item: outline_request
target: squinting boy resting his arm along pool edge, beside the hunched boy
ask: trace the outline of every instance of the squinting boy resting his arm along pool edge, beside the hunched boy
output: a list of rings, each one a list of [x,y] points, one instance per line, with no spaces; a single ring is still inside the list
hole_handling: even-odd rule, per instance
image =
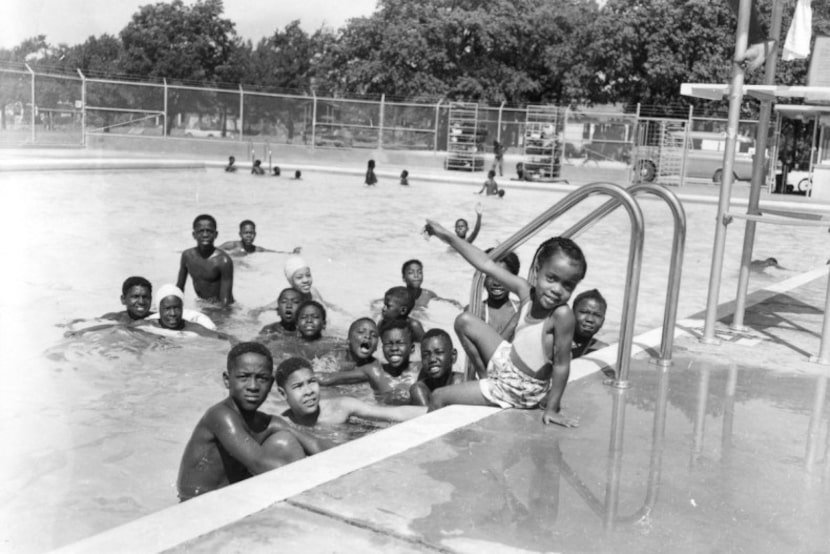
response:
[[[297,425],[338,425],[352,417],[378,421],[406,421],[426,413],[421,406],[381,406],[350,396],[320,397],[320,383],[304,358],[288,358],[277,367],[277,390],[288,403],[282,416]]]

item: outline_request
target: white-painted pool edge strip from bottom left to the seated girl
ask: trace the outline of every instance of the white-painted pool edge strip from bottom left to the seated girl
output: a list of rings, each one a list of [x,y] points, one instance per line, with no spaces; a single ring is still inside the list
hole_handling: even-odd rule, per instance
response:
[[[332,450],[257,475],[54,552],[160,552],[263,510],[327,481],[475,423],[500,411],[449,406],[381,429]]]

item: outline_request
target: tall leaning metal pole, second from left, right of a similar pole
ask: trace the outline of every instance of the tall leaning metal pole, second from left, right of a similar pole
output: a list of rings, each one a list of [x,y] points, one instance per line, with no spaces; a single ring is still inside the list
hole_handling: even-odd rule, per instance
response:
[[[775,83],[775,66],[778,61],[778,39],[781,37],[781,17],[784,11],[782,0],[775,0],[772,6],[772,23],[769,38],[774,40],[764,68],[764,84]],[[759,215],[758,203],[761,200],[761,185],[764,183],[766,169],[767,137],[769,136],[769,122],[772,114],[772,101],[761,101],[761,111],[758,115],[758,129],[755,132],[755,159],[752,162],[752,184],[749,189],[749,203],[746,213]],[[735,315],[732,318],[733,329],[744,328],[744,312],[746,311],[746,292],[749,288],[749,265],[752,263],[752,250],[755,248],[755,227],[757,222],[747,220],[744,227],[744,247],[741,253],[741,271],[738,274],[738,292],[735,296]]]

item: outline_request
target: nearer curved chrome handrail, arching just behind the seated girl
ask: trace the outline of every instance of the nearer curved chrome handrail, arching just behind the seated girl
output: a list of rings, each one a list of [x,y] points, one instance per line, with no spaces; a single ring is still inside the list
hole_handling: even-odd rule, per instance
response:
[[[613,203],[615,209],[618,206],[624,206],[631,221],[628,267],[626,270],[625,280],[626,293],[623,296],[622,306],[623,322],[620,326],[619,348],[617,349],[617,378],[613,382],[613,386],[615,387],[627,388],[629,386],[628,369],[631,360],[631,344],[634,338],[634,320],[637,310],[637,293],[640,288],[640,268],[642,266],[644,237],[643,213],[631,193],[614,183],[590,183],[580,187],[577,190],[567,194],[564,198],[552,207],[548,208],[536,219],[525,225],[522,229],[513,234],[500,245],[496,246],[490,253],[490,257],[494,260],[499,260],[505,254],[526,242],[539,229],[550,223],[552,220],[564,214],[589,196],[599,194],[614,197],[614,200],[606,204]],[[533,265],[534,264],[531,264],[531,272],[533,271]],[[476,271],[473,276],[473,283],[470,291],[470,308],[472,313],[478,317],[482,317],[484,311],[481,303],[481,289],[483,284],[484,274],[480,271]],[[472,374],[472,369],[469,365],[469,360],[467,363],[467,375],[469,378]]]

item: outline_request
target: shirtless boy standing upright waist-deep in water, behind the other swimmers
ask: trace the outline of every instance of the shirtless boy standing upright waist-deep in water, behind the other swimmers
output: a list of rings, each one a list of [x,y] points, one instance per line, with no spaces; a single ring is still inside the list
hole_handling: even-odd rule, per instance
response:
[[[182,252],[176,286],[184,291],[190,273],[196,296],[229,306],[233,304],[233,261],[224,250],[213,245],[218,235],[213,216],[196,216],[193,220],[196,246]]]

